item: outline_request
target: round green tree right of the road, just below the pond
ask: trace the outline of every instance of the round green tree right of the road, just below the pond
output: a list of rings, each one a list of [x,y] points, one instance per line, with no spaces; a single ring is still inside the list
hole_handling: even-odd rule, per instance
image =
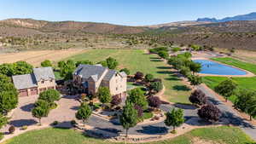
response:
[[[223,95],[226,101],[236,92],[237,84],[230,78],[218,84],[214,89],[219,95]]]

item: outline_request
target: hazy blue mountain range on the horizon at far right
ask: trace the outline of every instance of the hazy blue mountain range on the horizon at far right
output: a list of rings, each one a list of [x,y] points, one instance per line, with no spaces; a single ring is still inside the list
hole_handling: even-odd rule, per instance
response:
[[[217,20],[216,18],[199,18],[197,22],[226,22],[234,20],[256,20],[256,12],[250,14],[241,14],[233,17],[226,17],[224,19]]]

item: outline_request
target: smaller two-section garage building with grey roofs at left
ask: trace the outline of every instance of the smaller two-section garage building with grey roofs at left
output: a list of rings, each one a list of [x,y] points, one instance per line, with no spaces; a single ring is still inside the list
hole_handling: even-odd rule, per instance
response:
[[[46,89],[55,89],[55,74],[51,67],[33,68],[31,74],[12,77],[19,96],[38,95]]]

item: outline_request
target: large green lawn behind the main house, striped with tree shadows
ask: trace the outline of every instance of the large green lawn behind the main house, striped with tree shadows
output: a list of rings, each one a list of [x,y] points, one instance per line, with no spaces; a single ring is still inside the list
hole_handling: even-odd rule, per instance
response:
[[[131,73],[137,71],[151,73],[155,78],[161,78],[166,86],[165,95],[172,102],[189,103],[190,89],[169,71],[170,66],[161,61],[157,55],[147,55],[143,49],[91,49],[83,54],[73,55],[67,59],[91,60],[98,62],[109,56],[119,61],[120,68],[128,68]]]

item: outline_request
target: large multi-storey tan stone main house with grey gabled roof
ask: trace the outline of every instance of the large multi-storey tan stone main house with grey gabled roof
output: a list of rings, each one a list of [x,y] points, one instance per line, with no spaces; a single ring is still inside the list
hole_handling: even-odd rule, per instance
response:
[[[111,95],[126,95],[127,75],[101,65],[79,65],[73,72],[73,84],[88,95],[96,95],[99,87],[108,87]]]

